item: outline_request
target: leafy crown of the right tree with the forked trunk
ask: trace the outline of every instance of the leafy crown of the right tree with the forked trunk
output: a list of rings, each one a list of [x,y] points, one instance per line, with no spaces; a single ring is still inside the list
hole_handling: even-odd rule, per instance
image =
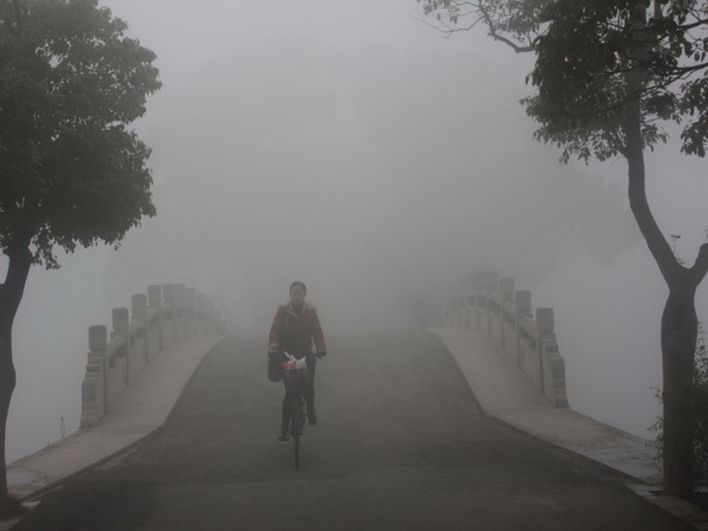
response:
[[[644,147],[668,140],[661,122],[669,120],[684,125],[683,152],[705,155],[708,2],[418,1],[442,31],[482,23],[491,37],[536,53],[527,82],[538,92],[524,103],[537,138],[563,147],[564,160],[624,155],[632,98],[641,101]]]

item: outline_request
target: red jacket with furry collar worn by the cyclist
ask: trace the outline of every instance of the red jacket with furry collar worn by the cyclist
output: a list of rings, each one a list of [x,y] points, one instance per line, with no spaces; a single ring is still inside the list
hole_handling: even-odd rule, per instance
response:
[[[319,324],[317,309],[304,303],[302,312],[296,314],[290,302],[281,304],[275,312],[273,325],[268,334],[269,350],[287,350],[298,360],[312,353],[312,342],[317,350],[324,350],[324,334]]]

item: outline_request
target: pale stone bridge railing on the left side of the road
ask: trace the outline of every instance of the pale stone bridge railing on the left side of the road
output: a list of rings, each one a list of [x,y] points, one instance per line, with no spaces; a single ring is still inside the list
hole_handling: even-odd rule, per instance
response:
[[[89,354],[81,384],[81,428],[96,426],[123,389],[167,347],[190,338],[226,333],[207,297],[183,284],[151,285],[114,308],[113,331],[89,327]]]

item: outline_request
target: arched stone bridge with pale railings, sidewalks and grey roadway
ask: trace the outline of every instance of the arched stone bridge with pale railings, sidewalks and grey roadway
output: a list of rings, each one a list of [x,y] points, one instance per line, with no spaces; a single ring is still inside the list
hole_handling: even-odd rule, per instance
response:
[[[263,338],[181,285],[130,313],[89,330],[81,430],[8,467],[18,531],[708,528],[647,441],[569,407],[552,309],[496,273],[425,331],[328,338],[298,471]]]

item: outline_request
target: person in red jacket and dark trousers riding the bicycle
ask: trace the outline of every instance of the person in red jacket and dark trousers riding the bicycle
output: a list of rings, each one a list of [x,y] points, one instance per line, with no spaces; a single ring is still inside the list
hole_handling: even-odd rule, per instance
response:
[[[316,356],[326,355],[322,326],[319,323],[316,307],[305,302],[307,287],[302,282],[292,282],[290,285],[290,300],[278,306],[273,325],[268,334],[268,355],[281,356],[284,351],[300,360],[307,356],[309,377],[304,382],[303,396],[307,406],[307,420],[311,426],[317,423],[314,412],[314,370],[316,360],[312,356],[312,343]],[[283,380],[285,382],[285,380]],[[292,411],[292,399],[285,386],[285,397],[282,399],[282,423],[278,440],[287,440],[287,425]]]

